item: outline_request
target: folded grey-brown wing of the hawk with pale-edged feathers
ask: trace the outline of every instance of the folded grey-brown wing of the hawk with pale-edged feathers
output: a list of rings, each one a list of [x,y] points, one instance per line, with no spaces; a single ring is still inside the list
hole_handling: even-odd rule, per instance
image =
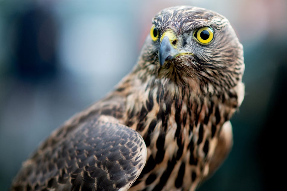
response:
[[[113,117],[95,117],[62,139],[55,134],[24,162],[12,190],[126,190],[146,162],[140,134]]]

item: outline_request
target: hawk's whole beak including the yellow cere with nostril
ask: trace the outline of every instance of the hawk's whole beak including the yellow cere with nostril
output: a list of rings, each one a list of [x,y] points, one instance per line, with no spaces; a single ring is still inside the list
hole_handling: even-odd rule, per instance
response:
[[[176,49],[176,42],[177,39],[171,31],[163,33],[158,51],[158,59],[161,66],[166,60],[171,60],[179,54]]]

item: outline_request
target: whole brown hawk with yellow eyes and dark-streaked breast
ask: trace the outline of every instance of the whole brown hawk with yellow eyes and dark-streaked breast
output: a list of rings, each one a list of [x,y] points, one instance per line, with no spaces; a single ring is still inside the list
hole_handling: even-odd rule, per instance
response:
[[[11,190],[195,190],[231,150],[243,73],[225,17],[162,10],[132,71],[43,141]]]

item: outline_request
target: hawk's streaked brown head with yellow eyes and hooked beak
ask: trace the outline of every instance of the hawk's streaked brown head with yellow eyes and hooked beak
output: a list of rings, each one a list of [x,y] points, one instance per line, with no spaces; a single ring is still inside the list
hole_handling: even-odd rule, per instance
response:
[[[202,94],[226,92],[244,72],[243,47],[229,21],[216,12],[190,6],[166,8],[152,27],[136,71]]]

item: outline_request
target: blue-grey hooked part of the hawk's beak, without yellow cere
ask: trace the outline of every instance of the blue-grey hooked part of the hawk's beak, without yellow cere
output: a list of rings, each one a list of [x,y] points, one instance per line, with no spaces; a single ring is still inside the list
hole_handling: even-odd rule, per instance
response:
[[[171,44],[168,36],[164,36],[161,40],[161,45],[158,51],[158,59],[161,66],[166,60],[171,60],[179,54],[177,49],[174,48],[174,45]]]

